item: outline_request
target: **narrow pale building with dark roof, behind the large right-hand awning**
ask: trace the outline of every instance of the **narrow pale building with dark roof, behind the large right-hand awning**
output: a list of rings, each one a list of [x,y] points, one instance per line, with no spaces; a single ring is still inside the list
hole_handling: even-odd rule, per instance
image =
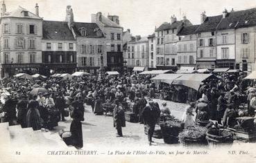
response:
[[[177,66],[196,66],[196,29],[195,26],[183,26],[178,32],[179,41],[177,43]]]

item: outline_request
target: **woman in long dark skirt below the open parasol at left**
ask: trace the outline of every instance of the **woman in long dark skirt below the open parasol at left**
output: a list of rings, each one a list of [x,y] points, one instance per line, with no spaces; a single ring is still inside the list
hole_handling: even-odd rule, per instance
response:
[[[32,127],[33,131],[40,130],[42,121],[38,111],[39,103],[36,101],[37,96],[33,95],[32,99],[28,102],[28,113],[26,114],[27,127]]]

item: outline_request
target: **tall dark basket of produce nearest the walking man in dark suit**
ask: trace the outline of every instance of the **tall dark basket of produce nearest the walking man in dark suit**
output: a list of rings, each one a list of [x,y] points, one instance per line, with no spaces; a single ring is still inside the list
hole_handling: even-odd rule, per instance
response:
[[[179,121],[166,121],[160,124],[162,137],[166,144],[178,143],[178,135],[182,131],[181,122]]]

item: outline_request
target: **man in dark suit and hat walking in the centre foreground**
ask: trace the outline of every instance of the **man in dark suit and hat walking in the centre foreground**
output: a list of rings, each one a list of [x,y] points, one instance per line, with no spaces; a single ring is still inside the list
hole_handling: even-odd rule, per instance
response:
[[[148,106],[146,106],[142,111],[142,117],[144,119],[144,124],[148,125],[148,144],[151,145],[153,133],[155,131],[155,124],[157,119],[160,117],[160,109],[154,106],[152,99],[148,100]]]

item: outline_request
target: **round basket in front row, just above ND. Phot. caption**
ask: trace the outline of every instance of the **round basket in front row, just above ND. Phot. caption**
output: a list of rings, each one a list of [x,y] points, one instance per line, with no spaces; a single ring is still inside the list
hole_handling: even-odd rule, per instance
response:
[[[206,140],[209,144],[228,144],[234,141],[231,131],[219,128],[210,128],[206,133]]]

